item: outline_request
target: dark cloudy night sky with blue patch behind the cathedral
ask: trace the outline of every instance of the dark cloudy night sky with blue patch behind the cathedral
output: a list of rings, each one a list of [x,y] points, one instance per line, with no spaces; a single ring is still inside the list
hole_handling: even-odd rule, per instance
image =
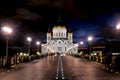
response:
[[[73,32],[74,42],[86,41],[89,35],[94,40],[118,38],[117,0],[0,0],[0,26],[8,24],[14,29],[10,46],[23,46],[27,36],[32,36],[33,43],[44,42],[59,15]],[[4,45],[4,36],[0,35]]]

